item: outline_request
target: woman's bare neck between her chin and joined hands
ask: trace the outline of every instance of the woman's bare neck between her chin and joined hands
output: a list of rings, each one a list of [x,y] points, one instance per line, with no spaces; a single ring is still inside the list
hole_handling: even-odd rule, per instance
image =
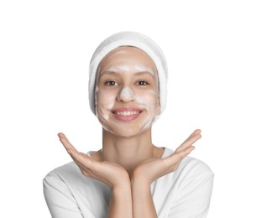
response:
[[[154,158],[151,128],[145,132],[125,138],[103,129],[102,160],[118,163],[130,174],[138,163]]]

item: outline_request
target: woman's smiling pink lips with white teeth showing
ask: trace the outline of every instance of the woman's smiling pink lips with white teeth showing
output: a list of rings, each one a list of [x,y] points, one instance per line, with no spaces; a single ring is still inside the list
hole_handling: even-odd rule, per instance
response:
[[[120,107],[112,110],[112,114],[119,121],[133,121],[135,120],[143,110],[135,107]]]

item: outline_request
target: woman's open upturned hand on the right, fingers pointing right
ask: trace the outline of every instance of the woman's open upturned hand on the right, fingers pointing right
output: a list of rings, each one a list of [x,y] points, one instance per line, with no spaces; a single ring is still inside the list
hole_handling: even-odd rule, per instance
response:
[[[140,163],[138,167],[133,170],[132,184],[138,181],[150,185],[154,180],[159,179],[159,177],[175,171],[181,159],[185,158],[185,156],[191,153],[195,148],[192,146],[193,143],[196,143],[200,138],[201,130],[196,129],[191,136],[175,150],[175,153],[172,153],[166,158],[150,158]]]

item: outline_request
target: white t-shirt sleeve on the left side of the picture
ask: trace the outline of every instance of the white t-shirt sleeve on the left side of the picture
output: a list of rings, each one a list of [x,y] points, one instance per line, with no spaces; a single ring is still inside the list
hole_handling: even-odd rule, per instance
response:
[[[43,185],[44,199],[52,218],[84,218],[71,190],[57,174],[46,175]]]

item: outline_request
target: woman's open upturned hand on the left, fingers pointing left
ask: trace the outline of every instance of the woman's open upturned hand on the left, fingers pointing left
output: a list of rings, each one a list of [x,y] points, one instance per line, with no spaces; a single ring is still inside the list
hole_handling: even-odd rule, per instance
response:
[[[60,142],[65,147],[66,151],[71,155],[81,173],[107,184],[110,188],[121,187],[124,184],[130,184],[128,172],[123,169],[118,163],[110,163],[107,161],[98,162],[86,155],[80,153],[65,137],[65,134],[59,133]]]

